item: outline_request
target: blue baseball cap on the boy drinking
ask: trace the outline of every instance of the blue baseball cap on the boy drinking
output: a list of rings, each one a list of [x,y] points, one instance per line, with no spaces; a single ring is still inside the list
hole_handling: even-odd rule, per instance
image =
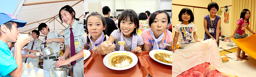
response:
[[[5,13],[5,12],[0,13],[0,25],[3,25],[9,21],[17,22],[19,28],[24,27],[27,23],[26,21],[18,20],[10,13]]]

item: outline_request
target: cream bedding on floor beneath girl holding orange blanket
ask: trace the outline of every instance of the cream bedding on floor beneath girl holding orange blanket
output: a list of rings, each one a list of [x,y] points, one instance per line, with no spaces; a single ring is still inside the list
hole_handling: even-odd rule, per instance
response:
[[[248,54],[246,54],[248,55]],[[221,56],[225,57],[225,56]],[[242,76],[246,77],[256,77],[256,60],[248,55],[248,60],[243,61],[235,61],[230,58],[229,62],[224,63],[225,66],[227,66],[229,69],[234,70],[241,74]]]

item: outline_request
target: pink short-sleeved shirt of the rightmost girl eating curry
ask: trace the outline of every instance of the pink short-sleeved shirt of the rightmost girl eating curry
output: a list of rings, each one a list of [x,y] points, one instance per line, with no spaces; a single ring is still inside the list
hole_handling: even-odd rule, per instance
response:
[[[165,32],[166,32],[165,38],[162,38],[161,41],[157,42],[157,44],[159,44],[158,46],[159,49],[165,49],[167,46],[164,45],[164,43],[169,44],[172,41],[172,33],[168,30],[165,30]],[[141,37],[143,38],[143,42],[145,44],[149,44],[149,49],[152,50],[154,46],[154,39],[151,37],[150,31],[149,30],[143,31],[141,34]]]

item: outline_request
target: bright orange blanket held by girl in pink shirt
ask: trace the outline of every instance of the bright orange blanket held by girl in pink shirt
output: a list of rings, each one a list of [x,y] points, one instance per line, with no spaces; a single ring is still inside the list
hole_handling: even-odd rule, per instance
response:
[[[235,39],[231,38],[239,48],[241,48],[245,53],[248,55],[252,56],[253,58],[256,59],[256,34],[251,35],[250,37],[247,38],[240,38],[240,39]],[[176,51],[175,51],[176,52]]]

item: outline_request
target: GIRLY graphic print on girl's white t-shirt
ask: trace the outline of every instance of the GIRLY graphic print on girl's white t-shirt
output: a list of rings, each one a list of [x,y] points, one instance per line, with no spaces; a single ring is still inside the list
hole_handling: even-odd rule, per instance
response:
[[[183,31],[183,29],[184,29],[185,31]],[[182,34],[183,39],[188,39],[188,42],[191,42],[192,39],[193,39],[193,38],[191,37],[191,33],[192,33],[192,31],[193,31],[193,27],[183,27],[183,29],[182,29],[182,27],[179,28],[179,30],[180,30],[180,32],[181,32],[181,34]],[[186,35],[184,35],[184,32],[186,33]]]

